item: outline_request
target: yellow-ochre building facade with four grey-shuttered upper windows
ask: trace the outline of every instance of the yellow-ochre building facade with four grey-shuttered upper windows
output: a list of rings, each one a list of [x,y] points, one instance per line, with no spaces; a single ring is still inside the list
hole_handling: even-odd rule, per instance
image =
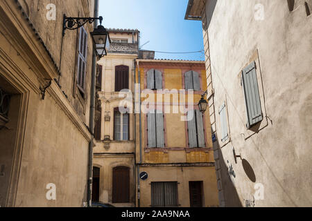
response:
[[[137,59],[138,206],[218,206],[204,61]],[[194,102],[195,101],[195,102]]]

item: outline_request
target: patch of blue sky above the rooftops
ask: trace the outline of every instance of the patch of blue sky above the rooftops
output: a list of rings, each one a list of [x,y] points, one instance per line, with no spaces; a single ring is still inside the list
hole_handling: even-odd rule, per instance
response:
[[[142,49],[164,52],[203,50],[200,21],[184,20],[188,0],[100,0],[105,28],[130,28],[141,32]],[[203,53],[162,54],[157,59],[204,60]]]

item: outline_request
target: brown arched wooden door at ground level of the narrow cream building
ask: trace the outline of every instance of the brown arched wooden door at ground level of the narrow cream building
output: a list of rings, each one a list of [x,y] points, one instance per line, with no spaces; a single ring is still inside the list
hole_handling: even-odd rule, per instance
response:
[[[112,172],[112,202],[130,202],[130,168],[117,166]]]

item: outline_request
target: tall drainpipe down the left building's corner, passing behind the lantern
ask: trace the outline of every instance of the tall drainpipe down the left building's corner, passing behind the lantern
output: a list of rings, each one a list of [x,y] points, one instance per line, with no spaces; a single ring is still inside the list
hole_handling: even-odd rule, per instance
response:
[[[98,0],[94,2],[94,17],[98,17]],[[94,21],[94,28],[98,26],[98,21]],[[92,134],[89,142],[89,163],[87,177],[87,204],[91,206],[92,202],[92,166],[93,166],[93,140],[94,140],[94,110],[95,110],[95,93],[96,93],[96,53],[92,53],[92,77],[91,77],[91,97],[90,97],[90,115],[89,115],[89,131]]]

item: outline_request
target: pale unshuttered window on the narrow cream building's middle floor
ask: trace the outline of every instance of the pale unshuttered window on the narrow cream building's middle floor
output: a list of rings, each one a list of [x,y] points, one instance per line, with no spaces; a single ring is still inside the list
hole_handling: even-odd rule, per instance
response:
[[[129,140],[129,110],[120,113],[119,108],[114,108],[114,140]]]

